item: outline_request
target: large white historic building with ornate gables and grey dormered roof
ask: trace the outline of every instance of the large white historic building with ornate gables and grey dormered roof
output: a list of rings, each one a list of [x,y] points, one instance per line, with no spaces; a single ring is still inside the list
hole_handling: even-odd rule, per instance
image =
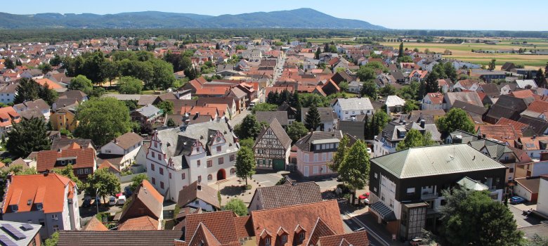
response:
[[[223,121],[155,131],[146,155],[152,186],[167,200],[194,181],[207,184],[235,177],[240,145]]]

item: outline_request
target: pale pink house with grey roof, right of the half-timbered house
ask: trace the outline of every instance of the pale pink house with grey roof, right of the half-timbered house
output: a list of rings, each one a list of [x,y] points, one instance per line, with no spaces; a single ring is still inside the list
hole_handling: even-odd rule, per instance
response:
[[[350,144],[356,141],[355,138],[348,137]],[[340,130],[312,131],[296,141],[296,165],[299,174],[305,177],[337,174],[327,164],[333,160],[341,138],[343,133]]]

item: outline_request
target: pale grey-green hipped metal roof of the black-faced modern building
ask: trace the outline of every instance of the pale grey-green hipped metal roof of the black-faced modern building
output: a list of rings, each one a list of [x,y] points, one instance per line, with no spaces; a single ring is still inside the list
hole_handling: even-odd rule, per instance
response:
[[[399,179],[506,168],[467,144],[408,148],[371,162]]]

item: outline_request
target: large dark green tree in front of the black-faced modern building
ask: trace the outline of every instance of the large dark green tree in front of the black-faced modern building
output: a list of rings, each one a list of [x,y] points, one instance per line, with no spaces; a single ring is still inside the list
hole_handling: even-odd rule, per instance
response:
[[[487,191],[443,190],[442,233],[451,245],[520,245],[523,233],[507,206]]]

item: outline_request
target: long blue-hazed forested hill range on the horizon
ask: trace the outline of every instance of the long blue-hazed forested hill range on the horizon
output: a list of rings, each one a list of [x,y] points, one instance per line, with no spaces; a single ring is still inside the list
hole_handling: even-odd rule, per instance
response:
[[[335,18],[311,8],[292,11],[242,13],[238,15],[197,15],[190,13],[133,12],[107,15],[91,13],[0,13],[0,29],[34,28],[315,28],[385,30],[362,20]]]

